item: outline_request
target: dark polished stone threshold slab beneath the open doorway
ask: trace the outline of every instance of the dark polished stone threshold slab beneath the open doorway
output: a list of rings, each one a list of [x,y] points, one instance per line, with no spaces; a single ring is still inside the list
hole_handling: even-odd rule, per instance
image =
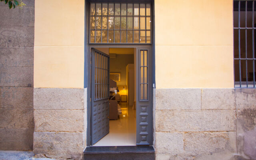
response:
[[[84,154],[99,153],[154,153],[153,146],[90,146],[86,147]]]

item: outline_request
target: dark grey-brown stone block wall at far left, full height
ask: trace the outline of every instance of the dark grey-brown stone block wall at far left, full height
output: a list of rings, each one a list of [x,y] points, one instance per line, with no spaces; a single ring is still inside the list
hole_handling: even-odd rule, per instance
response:
[[[0,2],[0,150],[33,149],[34,0]]]

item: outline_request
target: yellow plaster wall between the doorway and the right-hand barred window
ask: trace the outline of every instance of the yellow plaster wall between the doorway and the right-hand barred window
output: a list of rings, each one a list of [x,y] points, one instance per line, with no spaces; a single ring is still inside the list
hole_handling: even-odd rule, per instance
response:
[[[233,0],[155,0],[156,87],[233,88]]]

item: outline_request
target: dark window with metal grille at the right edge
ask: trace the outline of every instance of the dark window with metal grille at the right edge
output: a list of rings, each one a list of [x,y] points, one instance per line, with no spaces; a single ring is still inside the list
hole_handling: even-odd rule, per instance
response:
[[[234,87],[255,88],[256,3],[234,0]]]

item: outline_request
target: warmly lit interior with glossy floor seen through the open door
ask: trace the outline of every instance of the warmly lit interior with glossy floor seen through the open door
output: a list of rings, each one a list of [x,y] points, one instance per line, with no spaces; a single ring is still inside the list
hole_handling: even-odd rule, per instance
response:
[[[93,146],[136,146],[136,48],[95,49],[109,56],[109,133]],[[97,76],[99,84],[102,78]]]

